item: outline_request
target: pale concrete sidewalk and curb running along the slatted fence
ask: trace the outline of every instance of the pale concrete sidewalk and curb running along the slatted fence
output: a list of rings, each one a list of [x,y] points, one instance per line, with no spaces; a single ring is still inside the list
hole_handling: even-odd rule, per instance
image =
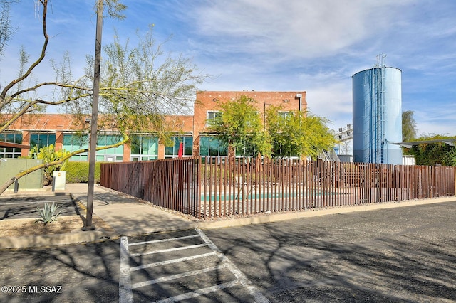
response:
[[[51,188],[43,188],[40,191],[20,191],[19,193],[6,192],[4,195],[0,196],[0,198],[17,198],[21,196],[54,196],[63,194],[71,195],[73,200],[78,202],[78,207],[80,208],[81,215],[86,217],[87,190],[87,184],[66,184],[64,191],[56,191],[56,193],[53,193],[51,191]],[[1,238],[0,249],[87,243],[98,240],[120,238],[120,236],[123,235],[143,235],[147,233],[186,230],[190,228],[223,228],[254,223],[269,223],[279,220],[291,220],[295,218],[325,216],[335,213],[371,211],[382,208],[415,206],[449,201],[456,201],[455,196],[425,200],[378,203],[363,206],[326,208],[294,213],[276,213],[269,216],[198,221],[197,219],[190,219],[190,217],[185,218],[183,216],[178,216],[177,213],[174,214],[172,211],[162,210],[160,207],[151,205],[150,203],[147,203],[140,199],[112,191],[109,188],[104,188],[103,186],[95,185],[93,193],[93,217],[95,218],[96,216],[101,218],[101,220],[103,220],[104,223],[107,223],[110,228],[97,228],[96,224],[94,224],[95,230],[90,231],[81,230],[81,232],[72,232],[57,235],[32,235]],[[2,220],[0,220],[0,228],[1,221]]]

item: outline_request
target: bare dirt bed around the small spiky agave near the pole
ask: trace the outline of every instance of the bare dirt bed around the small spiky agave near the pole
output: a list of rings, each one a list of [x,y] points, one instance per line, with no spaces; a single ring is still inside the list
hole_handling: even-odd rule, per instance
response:
[[[0,220],[0,238],[23,235],[51,235],[58,233],[80,233],[84,226],[81,216],[61,216],[51,223],[40,223],[36,219]],[[100,217],[93,217],[97,230],[113,232],[113,228]]]

